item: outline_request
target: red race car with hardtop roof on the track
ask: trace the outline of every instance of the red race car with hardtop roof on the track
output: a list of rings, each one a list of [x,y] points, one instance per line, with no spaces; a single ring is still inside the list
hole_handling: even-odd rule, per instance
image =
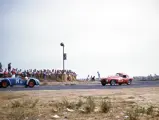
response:
[[[108,76],[107,78],[101,79],[101,84],[105,86],[106,84],[110,85],[122,85],[127,84],[130,85],[132,83],[133,78],[129,77],[124,73],[116,73],[114,76]]]

